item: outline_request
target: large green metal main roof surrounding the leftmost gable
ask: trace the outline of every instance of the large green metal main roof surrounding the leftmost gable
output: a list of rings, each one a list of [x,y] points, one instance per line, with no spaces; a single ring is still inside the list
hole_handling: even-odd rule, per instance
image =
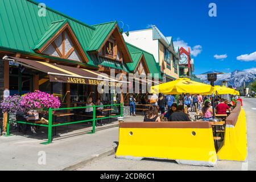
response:
[[[82,48],[86,51],[95,28],[78,22],[51,9],[46,16],[38,16],[38,3],[30,0],[0,1],[0,46],[34,52],[52,22],[67,19]],[[57,24],[56,24],[57,25]]]

